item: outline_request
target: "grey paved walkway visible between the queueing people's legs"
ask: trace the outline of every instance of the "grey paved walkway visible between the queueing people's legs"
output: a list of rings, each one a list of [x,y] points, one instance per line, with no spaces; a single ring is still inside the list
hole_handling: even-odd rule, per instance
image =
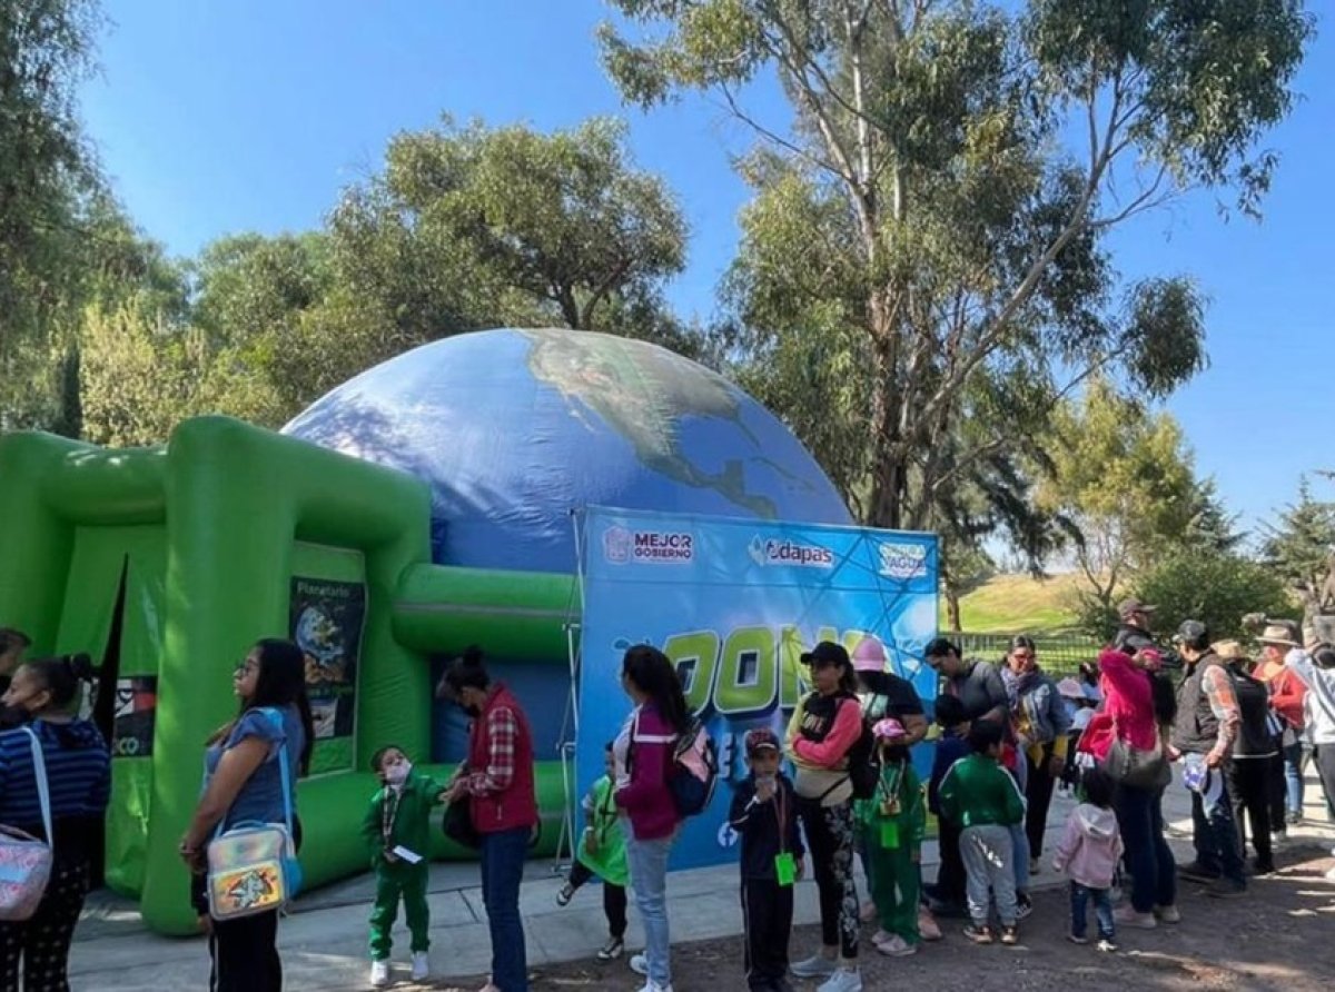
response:
[[[1307,821],[1291,828],[1288,844],[1328,849],[1335,844],[1335,828],[1326,824],[1326,813],[1318,806],[1320,786],[1315,778],[1308,778],[1307,797]],[[1061,794],[1053,798],[1048,829],[1052,842],[1071,805],[1072,801]],[[1168,790],[1164,816],[1172,825],[1169,841],[1175,852],[1189,860],[1191,805],[1180,785]],[[1035,888],[1060,884],[1047,861],[1045,856],[1044,871],[1033,879]],[[928,868],[926,877],[933,877],[937,862],[934,842],[924,846],[922,862]],[[561,879],[551,861],[527,865],[519,909],[530,967],[591,957],[605,939],[598,887],[582,889],[565,909],[555,904],[559,888]],[[674,941],[741,933],[736,865],[677,872],[668,888]],[[279,928],[284,988],[288,992],[367,988],[366,921],[372,891],[372,879],[366,875],[326,887],[299,901],[296,912]],[[485,975],[490,969],[491,951],[477,865],[431,865],[430,903],[431,964],[437,980]],[[794,921],[818,921],[812,881],[797,885]],[[400,939],[399,932],[402,924],[395,937],[403,952],[396,957],[402,961],[406,959],[407,933],[402,932]],[[638,947],[641,940],[631,911],[627,943]],[[97,893],[89,900],[80,923],[69,977],[79,991],[203,989],[208,987],[208,952],[202,939],[179,940],[148,933],[131,903]],[[414,988],[407,981],[406,965],[399,967],[395,977],[399,979],[395,988]],[[635,977],[627,971],[627,991],[635,984]]]

